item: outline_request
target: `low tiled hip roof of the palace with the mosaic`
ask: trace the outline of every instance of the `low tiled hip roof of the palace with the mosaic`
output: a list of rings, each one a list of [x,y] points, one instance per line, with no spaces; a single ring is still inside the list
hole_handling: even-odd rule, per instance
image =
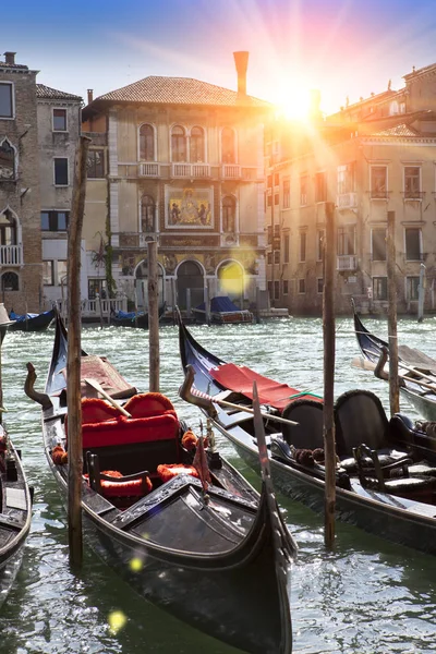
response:
[[[192,77],[149,76],[111,90],[94,101],[153,102],[161,105],[214,105],[220,107],[270,107],[269,102],[252,96],[239,96],[237,92],[199,82]]]

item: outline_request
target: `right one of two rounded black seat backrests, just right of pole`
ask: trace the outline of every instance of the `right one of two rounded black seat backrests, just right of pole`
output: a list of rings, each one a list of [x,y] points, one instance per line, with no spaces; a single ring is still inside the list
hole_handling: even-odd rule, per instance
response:
[[[339,457],[352,457],[365,444],[373,450],[389,448],[389,423],[380,400],[370,390],[350,390],[335,403],[336,446]]]

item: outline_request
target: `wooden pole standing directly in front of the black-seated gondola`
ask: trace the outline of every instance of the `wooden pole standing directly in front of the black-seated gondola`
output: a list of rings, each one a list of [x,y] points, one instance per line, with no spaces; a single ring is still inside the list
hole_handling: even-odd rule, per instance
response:
[[[326,205],[326,241],[324,246],[324,453],[326,468],[324,542],[331,548],[335,543],[336,505],[336,445],[335,445],[335,205]]]

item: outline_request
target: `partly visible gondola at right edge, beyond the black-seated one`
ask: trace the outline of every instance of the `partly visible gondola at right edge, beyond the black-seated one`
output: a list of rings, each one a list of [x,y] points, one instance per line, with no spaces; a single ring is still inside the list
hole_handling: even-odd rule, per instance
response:
[[[354,331],[362,358],[354,360],[353,365],[374,372],[374,374],[387,380],[388,371],[378,365],[382,353],[389,353],[386,341],[371,334],[363,325],[354,302],[353,317]],[[408,346],[398,346],[398,375],[401,395],[416,409],[427,421],[436,421],[436,361],[420,350]]]

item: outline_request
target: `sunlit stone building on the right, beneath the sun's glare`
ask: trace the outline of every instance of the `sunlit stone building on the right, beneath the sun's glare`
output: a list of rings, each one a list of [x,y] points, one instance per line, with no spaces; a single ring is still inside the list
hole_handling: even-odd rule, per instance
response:
[[[271,303],[295,314],[323,306],[326,203],[336,206],[336,306],[387,311],[387,213],[396,216],[397,298],[435,310],[436,64],[305,130],[271,122],[266,136],[267,278]]]

